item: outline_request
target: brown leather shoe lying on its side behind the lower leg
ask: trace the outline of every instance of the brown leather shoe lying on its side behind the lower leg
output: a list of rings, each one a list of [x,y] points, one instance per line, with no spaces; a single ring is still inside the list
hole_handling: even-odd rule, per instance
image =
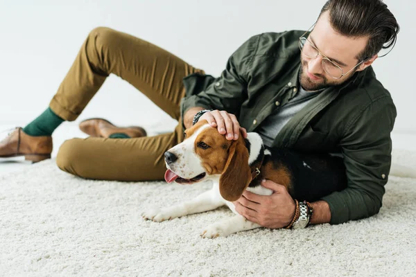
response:
[[[146,131],[139,126],[117,127],[110,121],[103,118],[89,118],[80,123],[80,129],[89,136],[108,138],[112,134],[123,133],[130,138],[147,136]]]

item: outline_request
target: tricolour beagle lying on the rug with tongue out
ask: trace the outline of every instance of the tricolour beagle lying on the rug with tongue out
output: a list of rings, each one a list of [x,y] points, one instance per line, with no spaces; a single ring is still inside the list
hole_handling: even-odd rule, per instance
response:
[[[227,236],[261,227],[236,213],[234,204],[244,190],[258,195],[271,195],[261,186],[270,179],[286,187],[299,201],[314,202],[320,197],[347,186],[343,160],[329,154],[302,154],[288,149],[265,148],[259,134],[250,132],[247,139],[239,136],[228,141],[201,120],[185,131],[185,139],[164,154],[165,179],[168,183],[190,185],[211,180],[211,190],[195,199],[169,208],[143,213],[146,220],[162,222],[175,217],[211,211],[227,205],[236,215],[205,228],[202,238]]]

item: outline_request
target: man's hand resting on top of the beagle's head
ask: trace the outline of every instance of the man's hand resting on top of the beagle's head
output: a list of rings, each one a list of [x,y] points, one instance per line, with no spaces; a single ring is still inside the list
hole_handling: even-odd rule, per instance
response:
[[[225,138],[229,141],[239,139],[240,132],[243,138],[247,138],[247,130],[240,126],[234,114],[229,114],[227,111],[207,111],[200,117],[200,120],[207,120],[212,127],[217,127],[220,134],[227,134]]]

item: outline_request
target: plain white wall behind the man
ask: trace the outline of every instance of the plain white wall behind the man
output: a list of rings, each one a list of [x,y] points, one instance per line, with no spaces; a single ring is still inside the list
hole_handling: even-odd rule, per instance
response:
[[[157,44],[207,73],[219,75],[248,37],[306,30],[325,0],[0,0],[0,124],[25,125],[49,104],[80,45],[96,26]],[[416,133],[415,1],[385,0],[401,25],[396,48],[374,62],[397,105],[394,132]],[[145,127],[175,121],[139,91],[111,75],[82,119],[109,118]]]

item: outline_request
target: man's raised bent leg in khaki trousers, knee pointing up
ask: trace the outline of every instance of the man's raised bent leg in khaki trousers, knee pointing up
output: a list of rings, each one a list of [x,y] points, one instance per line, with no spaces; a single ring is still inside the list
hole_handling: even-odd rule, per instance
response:
[[[130,82],[175,119],[184,97],[182,79],[203,72],[149,42],[110,28],[89,33],[51,109],[64,120],[75,120],[110,73]]]

